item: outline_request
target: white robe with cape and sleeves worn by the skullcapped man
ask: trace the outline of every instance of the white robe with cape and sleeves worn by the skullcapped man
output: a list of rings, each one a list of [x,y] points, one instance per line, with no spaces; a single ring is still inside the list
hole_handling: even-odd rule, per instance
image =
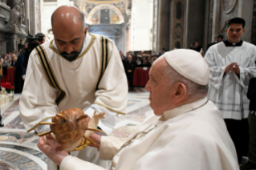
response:
[[[100,158],[112,160],[111,170],[239,169],[221,112],[206,98],[165,111],[161,117],[152,115],[122,144],[113,136],[102,137]],[[67,156],[60,169],[104,168]]]

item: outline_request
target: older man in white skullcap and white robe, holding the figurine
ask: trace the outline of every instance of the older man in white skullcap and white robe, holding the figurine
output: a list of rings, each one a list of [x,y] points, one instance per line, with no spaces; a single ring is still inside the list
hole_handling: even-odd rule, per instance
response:
[[[126,142],[99,136],[94,147],[100,158],[112,160],[111,170],[238,170],[234,144],[221,112],[205,95],[209,67],[192,50],[166,52],[152,64],[146,90],[150,91],[149,116]],[[61,170],[104,170],[69,156],[47,136],[39,148]]]

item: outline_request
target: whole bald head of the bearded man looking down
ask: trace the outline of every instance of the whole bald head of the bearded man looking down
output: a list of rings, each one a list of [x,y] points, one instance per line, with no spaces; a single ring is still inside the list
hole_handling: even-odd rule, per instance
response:
[[[68,61],[78,58],[86,38],[83,12],[75,6],[60,6],[51,16],[52,32],[59,54]]]

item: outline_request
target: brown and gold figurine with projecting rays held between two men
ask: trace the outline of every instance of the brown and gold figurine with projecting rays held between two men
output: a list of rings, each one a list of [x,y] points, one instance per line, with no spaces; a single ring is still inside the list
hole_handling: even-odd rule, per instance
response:
[[[35,127],[40,124],[50,124],[51,131],[38,134],[38,136],[46,136],[51,133],[67,152],[78,151],[86,148],[89,144],[95,144],[95,141],[89,136],[94,132],[102,132],[97,129],[97,126],[104,115],[104,112],[97,113],[95,111],[93,117],[87,123],[88,115],[84,114],[80,108],[70,108],[57,113],[52,117],[52,122],[42,121],[37,123]],[[35,129],[35,127],[28,132]]]

